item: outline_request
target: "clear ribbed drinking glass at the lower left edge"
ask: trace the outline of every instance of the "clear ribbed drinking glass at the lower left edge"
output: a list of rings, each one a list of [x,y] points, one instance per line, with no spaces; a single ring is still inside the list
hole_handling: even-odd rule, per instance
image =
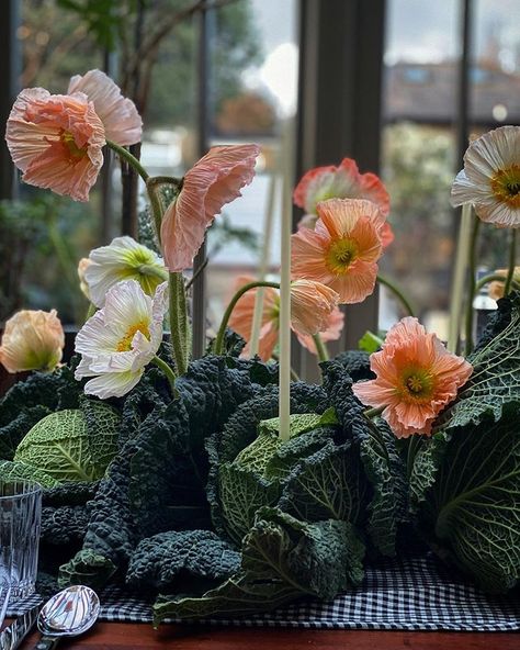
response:
[[[0,593],[10,589],[12,599],[34,592],[41,518],[41,485],[0,480]]]

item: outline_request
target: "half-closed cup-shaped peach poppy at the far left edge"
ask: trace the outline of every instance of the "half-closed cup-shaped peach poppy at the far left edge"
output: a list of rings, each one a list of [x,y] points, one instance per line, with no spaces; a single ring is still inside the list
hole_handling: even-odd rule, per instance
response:
[[[64,346],[64,328],[56,310],[22,310],[5,323],[0,363],[12,373],[53,370],[61,360]]]

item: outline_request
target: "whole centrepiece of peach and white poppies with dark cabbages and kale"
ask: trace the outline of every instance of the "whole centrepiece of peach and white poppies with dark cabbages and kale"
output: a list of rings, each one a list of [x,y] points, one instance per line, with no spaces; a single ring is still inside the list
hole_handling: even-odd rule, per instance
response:
[[[117,237],[80,261],[92,307],[70,366],[59,366],[55,312],[20,312],[7,324],[0,361],[39,372],[0,402],[0,475],[46,486],[42,568],[60,585],[118,581],[158,594],[157,623],[334,598],[361,582],[368,558],[414,552],[414,535],[483,589],[513,587],[520,128],[472,143],[453,184],[473,235],[470,247],[460,243],[448,348],[378,274],[393,240],[389,198],[346,158],[299,181],[293,198],[306,214],[291,258],[285,250],[282,285],[240,278],[199,360],[190,359],[183,271],[251,181],[259,148],[213,147],[182,179],[149,177],[125,148],[140,134],[135,107],[99,70],[74,77],[64,96],[22,91],[8,122],[23,180],[75,200],[88,200],[104,146],[132,165],[161,250]],[[507,270],[479,280],[495,292],[499,283],[504,298],[475,348],[478,287],[470,281],[463,357],[461,287],[467,271],[474,278],[481,220],[508,228],[510,254]],[[370,337],[371,355],[329,359],[326,343],[343,327],[338,305],[363,301],[376,281],[407,316],[384,339]],[[289,328],[320,360],[320,385],[295,380],[284,393],[287,358],[272,359]]]

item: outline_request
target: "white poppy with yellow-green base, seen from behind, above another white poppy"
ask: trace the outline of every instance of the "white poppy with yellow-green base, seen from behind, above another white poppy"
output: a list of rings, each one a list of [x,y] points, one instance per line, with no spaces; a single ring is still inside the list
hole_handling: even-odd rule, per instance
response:
[[[132,237],[116,237],[110,246],[94,248],[83,270],[90,300],[102,307],[108,291],[122,280],[137,280],[148,295],[168,278],[162,259]]]

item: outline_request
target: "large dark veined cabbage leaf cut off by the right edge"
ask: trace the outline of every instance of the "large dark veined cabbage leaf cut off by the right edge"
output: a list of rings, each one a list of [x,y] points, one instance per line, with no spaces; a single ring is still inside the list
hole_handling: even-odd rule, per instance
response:
[[[410,480],[419,529],[491,592],[520,578],[520,402],[502,412],[425,441]]]

